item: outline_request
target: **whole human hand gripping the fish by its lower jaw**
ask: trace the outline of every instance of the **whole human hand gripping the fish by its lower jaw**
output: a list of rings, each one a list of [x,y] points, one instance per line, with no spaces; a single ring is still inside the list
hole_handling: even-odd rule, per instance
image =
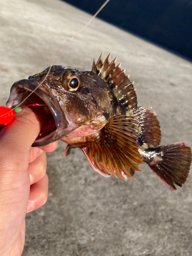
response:
[[[21,255],[26,212],[45,204],[46,153],[57,143],[31,147],[45,120],[30,109],[17,114],[0,133],[0,255]]]

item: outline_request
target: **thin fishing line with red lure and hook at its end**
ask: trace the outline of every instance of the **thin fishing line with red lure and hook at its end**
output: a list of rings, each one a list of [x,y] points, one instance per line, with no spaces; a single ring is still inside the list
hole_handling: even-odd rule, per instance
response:
[[[51,65],[50,65],[50,68],[49,68],[49,70],[48,70],[48,73],[46,74],[46,76],[44,77],[44,79],[39,83],[39,85],[38,85],[22,102],[20,102],[17,106],[15,106],[14,109],[11,109],[11,110],[10,110],[9,108],[7,108],[6,106],[0,106],[0,111],[1,111],[1,113],[4,112],[3,115],[0,116],[0,124],[4,124],[4,123],[1,123],[1,121],[2,121],[2,122],[5,122],[5,125],[9,124],[9,123],[13,120],[13,118],[15,117],[16,113],[19,113],[20,111],[22,111],[23,108],[26,108],[27,106],[31,106],[31,105],[33,105],[33,106],[42,105],[42,104],[35,103],[35,104],[27,105],[27,106],[25,106],[25,107],[23,107],[23,108],[18,108],[19,105],[21,105],[26,99],[28,99],[28,98],[41,86],[41,84],[45,82],[46,78],[48,77],[48,75],[49,75],[49,73],[50,73],[50,70],[51,70],[51,68],[52,68],[52,66],[53,66],[53,63],[54,63],[55,58],[56,58],[57,54],[59,53],[59,51],[60,51],[69,41],[71,41],[74,37],[76,37],[83,29],[85,29],[85,28],[92,22],[92,20],[98,15],[98,13],[105,7],[105,5],[108,4],[109,2],[110,2],[110,0],[106,0],[106,1],[104,2],[104,4],[102,4],[102,6],[98,9],[98,11],[91,17],[91,19],[89,20],[89,22],[88,22],[86,25],[84,25],[84,26],[83,26],[77,33],[75,33],[72,37],[70,37],[66,42],[64,42],[64,44],[57,50],[57,52],[55,53],[55,55],[54,55],[54,57],[53,57],[53,60],[52,60],[52,62],[51,62]],[[17,108],[18,108],[18,112],[15,111]],[[6,112],[6,109],[7,109],[7,110],[10,110],[10,111],[9,111],[9,112]],[[13,118],[12,118],[12,120],[10,121],[11,116],[12,116]],[[9,122],[7,122],[8,119],[9,119]]]

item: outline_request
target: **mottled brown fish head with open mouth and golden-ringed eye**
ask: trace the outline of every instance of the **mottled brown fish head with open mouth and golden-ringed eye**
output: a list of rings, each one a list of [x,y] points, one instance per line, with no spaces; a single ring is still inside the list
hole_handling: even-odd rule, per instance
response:
[[[96,132],[97,127],[109,120],[114,96],[108,84],[99,76],[93,72],[79,72],[62,66],[52,66],[49,74],[48,71],[49,68],[15,82],[7,101],[9,108],[15,108],[36,89],[19,105],[42,104],[41,108],[47,116],[33,146],[44,146],[62,139],[83,125],[94,124],[93,130]]]

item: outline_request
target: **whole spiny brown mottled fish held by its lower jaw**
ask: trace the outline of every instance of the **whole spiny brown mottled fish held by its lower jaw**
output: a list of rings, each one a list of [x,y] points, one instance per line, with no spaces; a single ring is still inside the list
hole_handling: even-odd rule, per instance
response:
[[[104,177],[135,179],[140,164],[148,164],[159,181],[169,190],[182,187],[191,164],[187,141],[159,146],[161,130],[151,106],[137,106],[134,82],[110,62],[111,53],[101,53],[91,71],[52,66],[13,84],[7,101],[15,108],[39,103],[46,122],[32,146],[66,142],[64,156],[80,148],[92,168]],[[49,72],[49,73],[48,73]],[[44,80],[45,76],[47,78]],[[42,84],[39,86],[39,84]]]

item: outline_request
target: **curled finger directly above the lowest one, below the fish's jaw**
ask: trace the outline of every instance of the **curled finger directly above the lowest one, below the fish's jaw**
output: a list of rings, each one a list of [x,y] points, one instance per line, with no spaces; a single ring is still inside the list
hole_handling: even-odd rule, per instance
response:
[[[29,164],[28,172],[30,185],[42,179],[46,174],[47,158],[46,153],[42,153],[32,163]]]

